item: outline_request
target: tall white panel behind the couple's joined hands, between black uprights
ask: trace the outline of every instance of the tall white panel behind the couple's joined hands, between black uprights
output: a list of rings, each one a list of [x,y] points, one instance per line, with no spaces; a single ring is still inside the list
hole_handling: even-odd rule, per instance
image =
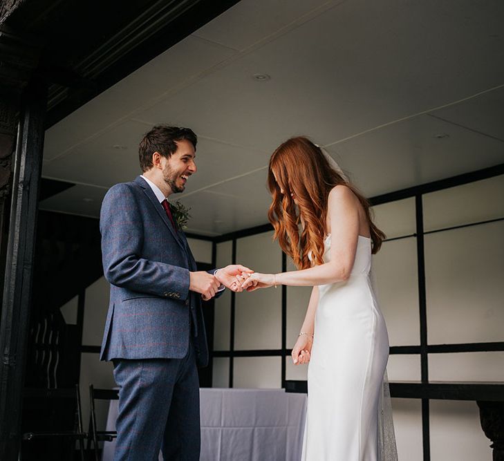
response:
[[[257,272],[281,272],[281,250],[272,232],[239,238],[236,262]],[[281,348],[281,289],[237,293],[235,299],[234,348],[236,350]]]

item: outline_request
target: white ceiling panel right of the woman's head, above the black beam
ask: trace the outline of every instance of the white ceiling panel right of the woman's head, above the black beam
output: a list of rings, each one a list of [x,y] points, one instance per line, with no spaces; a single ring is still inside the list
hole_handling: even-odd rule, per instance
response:
[[[429,115],[328,149],[366,196],[413,187],[504,162],[504,142]]]

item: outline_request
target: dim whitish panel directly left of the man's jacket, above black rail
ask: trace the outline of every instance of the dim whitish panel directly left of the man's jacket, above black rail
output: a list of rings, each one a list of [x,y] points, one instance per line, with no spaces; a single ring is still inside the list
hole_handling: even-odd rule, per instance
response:
[[[102,345],[106,314],[109,311],[109,298],[110,285],[105,277],[101,277],[86,288],[82,344],[86,346]]]

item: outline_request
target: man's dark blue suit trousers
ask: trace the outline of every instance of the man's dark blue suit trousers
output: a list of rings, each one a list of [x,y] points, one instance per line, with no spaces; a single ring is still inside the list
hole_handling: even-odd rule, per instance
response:
[[[114,461],[198,461],[200,396],[192,341],[183,359],[115,359]]]

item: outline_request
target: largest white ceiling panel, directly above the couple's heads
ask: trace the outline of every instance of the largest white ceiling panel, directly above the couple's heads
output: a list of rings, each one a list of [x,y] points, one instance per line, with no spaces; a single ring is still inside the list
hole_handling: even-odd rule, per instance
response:
[[[202,135],[271,150],[295,133],[329,144],[501,83],[503,43],[489,36],[501,23],[482,23],[476,8],[440,20],[438,3],[344,3],[140,117],[154,122],[172,110]],[[466,59],[475,41],[481,49]],[[271,79],[256,82],[255,73]]]

